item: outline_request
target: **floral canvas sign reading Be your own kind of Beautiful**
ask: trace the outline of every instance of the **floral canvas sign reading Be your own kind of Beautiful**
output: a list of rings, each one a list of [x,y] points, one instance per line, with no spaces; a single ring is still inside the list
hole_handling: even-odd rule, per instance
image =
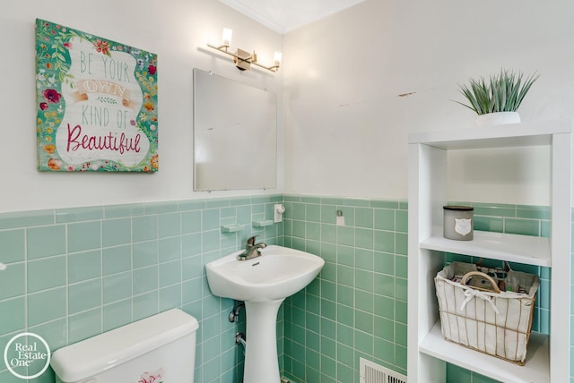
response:
[[[157,55],[36,20],[39,171],[158,170]]]

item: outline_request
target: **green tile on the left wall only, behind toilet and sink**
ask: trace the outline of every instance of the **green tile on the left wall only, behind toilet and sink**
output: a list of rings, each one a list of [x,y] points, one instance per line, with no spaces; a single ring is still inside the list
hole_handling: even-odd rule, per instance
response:
[[[211,294],[204,264],[251,235],[283,243],[273,217],[283,195],[186,200],[0,214],[0,350],[17,334],[44,337],[52,351],[171,308],[199,321],[196,382],[237,382],[243,352],[230,323],[233,301]],[[221,226],[244,224],[235,233]],[[277,327],[283,348],[283,309]],[[282,353],[280,353],[282,355]],[[22,383],[0,358],[0,382]],[[34,383],[54,383],[48,369]]]

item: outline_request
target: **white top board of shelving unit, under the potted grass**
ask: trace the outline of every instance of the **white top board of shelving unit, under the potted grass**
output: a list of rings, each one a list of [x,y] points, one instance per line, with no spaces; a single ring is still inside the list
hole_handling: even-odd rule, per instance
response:
[[[504,126],[412,133],[409,135],[409,143],[420,143],[440,149],[508,148],[549,145],[552,143],[553,134],[570,132],[572,132],[570,120],[544,124],[510,123]]]

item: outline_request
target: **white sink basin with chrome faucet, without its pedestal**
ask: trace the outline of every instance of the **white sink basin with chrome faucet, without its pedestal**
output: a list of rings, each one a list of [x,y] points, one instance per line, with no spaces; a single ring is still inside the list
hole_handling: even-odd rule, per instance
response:
[[[317,277],[325,260],[309,252],[269,245],[261,257],[237,260],[234,252],[205,265],[213,295],[237,301],[283,300]]]

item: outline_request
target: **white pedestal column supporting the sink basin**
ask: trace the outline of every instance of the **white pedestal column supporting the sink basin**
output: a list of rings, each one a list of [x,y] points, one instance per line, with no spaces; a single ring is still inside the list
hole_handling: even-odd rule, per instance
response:
[[[277,311],[283,299],[245,302],[246,348],[243,383],[279,383]]]

